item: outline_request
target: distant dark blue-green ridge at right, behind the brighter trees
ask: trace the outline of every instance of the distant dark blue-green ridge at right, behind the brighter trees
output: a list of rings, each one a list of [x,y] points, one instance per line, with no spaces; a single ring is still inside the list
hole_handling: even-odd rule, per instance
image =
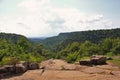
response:
[[[64,48],[72,42],[83,43],[88,40],[92,43],[99,43],[105,38],[117,38],[120,37],[120,28],[108,29],[108,30],[93,30],[93,31],[80,31],[70,33],[60,33],[58,36],[47,38],[42,43],[51,48]]]

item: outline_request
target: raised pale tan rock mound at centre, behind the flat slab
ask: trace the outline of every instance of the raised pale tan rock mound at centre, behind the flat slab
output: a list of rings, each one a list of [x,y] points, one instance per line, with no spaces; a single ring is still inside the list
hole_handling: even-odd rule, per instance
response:
[[[68,64],[66,61],[58,59],[42,61],[40,66],[50,70],[75,70],[76,68],[75,64]]]

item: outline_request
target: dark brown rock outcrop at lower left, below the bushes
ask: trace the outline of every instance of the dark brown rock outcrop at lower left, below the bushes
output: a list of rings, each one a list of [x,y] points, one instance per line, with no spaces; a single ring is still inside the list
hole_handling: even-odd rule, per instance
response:
[[[12,74],[24,73],[27,70],[39,69],[37,63],[32,62],[20,62],[19,64],[14,65],[5,65],[0,67],[0,79]]]

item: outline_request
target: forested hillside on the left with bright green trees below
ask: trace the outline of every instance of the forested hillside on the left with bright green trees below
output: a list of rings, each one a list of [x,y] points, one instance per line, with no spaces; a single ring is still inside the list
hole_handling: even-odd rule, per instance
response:
[[[13,59],[32,62],[43,60],[41,49],[37,50],[37,46],[22,35],[0,33],[0,65],[10,64]]]

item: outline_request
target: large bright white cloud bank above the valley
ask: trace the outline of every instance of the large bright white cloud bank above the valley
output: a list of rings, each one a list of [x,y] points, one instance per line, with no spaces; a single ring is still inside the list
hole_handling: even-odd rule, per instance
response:
[[[17,7],[20,14],[0,17],[2,32],[38,37],[113,25],[101,14],[86,14],[76,8],[57,8],[50,0],[22,0]]]

